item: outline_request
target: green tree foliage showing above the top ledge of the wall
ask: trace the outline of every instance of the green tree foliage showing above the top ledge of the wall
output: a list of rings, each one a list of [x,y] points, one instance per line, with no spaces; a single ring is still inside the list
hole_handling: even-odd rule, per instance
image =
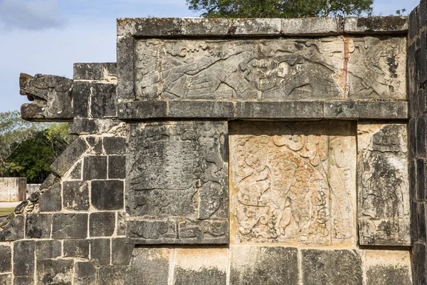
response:
[[[207,18],[304,18],[370,15],[374,0],[186,0]]]

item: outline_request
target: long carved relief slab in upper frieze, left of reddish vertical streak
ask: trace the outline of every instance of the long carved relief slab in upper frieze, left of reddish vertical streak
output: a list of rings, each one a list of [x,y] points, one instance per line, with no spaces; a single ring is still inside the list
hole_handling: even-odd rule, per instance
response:
[[[137,41],[137,99],[342,98],[339,38]]]

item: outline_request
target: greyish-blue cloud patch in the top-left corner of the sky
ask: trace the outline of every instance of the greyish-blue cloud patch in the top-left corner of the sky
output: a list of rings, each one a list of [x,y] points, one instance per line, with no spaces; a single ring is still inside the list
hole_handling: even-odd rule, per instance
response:
[[[6,29],[44,30],[64,21],[58,0],[0,0],[0,23]]]

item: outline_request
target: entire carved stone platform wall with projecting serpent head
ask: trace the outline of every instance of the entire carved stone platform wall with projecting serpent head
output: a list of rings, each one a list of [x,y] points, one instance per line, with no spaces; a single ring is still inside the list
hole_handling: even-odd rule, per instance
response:
[[[117,64],[21,75],[79,137],[0,223],[0,284],[421,284],[405,17],[117,27]]]

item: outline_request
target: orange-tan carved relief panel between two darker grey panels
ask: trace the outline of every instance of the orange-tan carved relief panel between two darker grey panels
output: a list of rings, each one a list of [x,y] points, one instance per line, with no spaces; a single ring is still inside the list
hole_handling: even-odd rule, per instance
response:
[[[354,244],[356,126],[233,123],[234,242]]]

